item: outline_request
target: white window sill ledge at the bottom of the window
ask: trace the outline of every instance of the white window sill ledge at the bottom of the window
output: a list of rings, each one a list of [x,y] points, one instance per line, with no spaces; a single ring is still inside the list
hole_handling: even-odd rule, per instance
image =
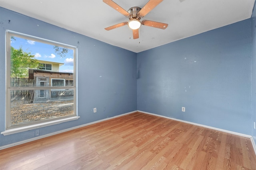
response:
[[[56,125],[59,123],[63,123],[66,121],[72,121],[72,120],[77,120],[79,119],[80,116],[74,116],[74,117],[67,117],[64,119],[58,119],[58,120],[53,120],[53,121],[48,121],[48,122],[44,122],[44,123],[37,123],[34,125],[28,125],[28,126],[24,126],[24,127],[17,127],[17,128],[13,128],[13,129],[8,129],[6,131],[1,132],[1,134],[5,135],[11,135],[14,133],[19,133],[19,132],[24,132],[24,131],[29,131],[32,129],[37,129],[40,127],[46,127],[46,126],[50,126],[50,125]]]

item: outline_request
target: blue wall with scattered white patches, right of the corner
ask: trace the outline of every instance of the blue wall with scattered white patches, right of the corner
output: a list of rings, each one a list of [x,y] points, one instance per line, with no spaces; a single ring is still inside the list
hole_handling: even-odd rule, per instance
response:
[[[251,59],[250,19],[138,53],[138,110],[251,135]]]

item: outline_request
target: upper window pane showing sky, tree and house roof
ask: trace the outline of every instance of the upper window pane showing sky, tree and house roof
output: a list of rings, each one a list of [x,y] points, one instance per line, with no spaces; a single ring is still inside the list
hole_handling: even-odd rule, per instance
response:
[[[50,78],[73,79],[74,49],[15,36],[10,40],[11,87],[42,86],[40,77],[47,79],[44,86],[50,86]]]

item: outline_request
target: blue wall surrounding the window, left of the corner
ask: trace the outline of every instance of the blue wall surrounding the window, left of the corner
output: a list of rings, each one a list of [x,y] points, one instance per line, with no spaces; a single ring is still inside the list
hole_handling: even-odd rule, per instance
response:
[[[137,110],[136,53],[0,8],[0,131],[5,129],[6,29],[78,47],[80,119],[43,127],[40,135]],[[0,146],[33,137],[34,130],[0,135]]]

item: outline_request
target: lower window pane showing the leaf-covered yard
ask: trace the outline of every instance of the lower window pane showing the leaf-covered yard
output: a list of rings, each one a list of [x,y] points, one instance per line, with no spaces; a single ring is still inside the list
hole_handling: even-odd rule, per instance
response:
[[[74,115],[74,94],[72,90],[63,90],[62,94],[57,92],[59,96],[62,96],[61,100],[58,98],[57,101],[46,99],[46,96],[50,96],[51,90],[27,90],[28,98],[19,98],[20,94],[25,93],[21,91],[11,90],[11,94],[17,96],[10,101],[11,126]],[[32,96],[33,92],[36,97]]]

